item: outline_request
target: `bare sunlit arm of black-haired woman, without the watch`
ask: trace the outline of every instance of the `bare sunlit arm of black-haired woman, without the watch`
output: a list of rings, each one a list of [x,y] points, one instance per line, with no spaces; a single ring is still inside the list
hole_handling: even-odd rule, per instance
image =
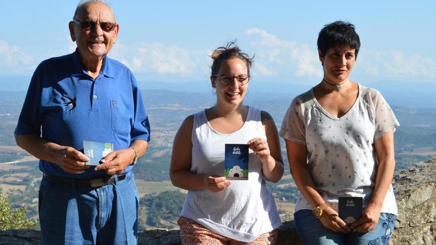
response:
[[[384,134],[374,142],[379,166],[376,174],[376,185],[370,203],[362,213],[362,217],[351,225],[355,232],[368,232],[379,222],[384,197],[392,182],[395,170],[395,151],[393,131]]]

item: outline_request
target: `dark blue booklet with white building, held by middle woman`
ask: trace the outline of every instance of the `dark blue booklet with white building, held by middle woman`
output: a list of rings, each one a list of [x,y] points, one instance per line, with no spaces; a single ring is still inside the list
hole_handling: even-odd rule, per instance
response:
[[[248,145],[225,144],[224,177],[248,180]]]

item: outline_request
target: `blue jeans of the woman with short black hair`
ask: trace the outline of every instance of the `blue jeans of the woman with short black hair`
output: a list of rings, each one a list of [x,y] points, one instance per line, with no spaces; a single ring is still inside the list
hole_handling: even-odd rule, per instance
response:
[[[395,227],[396,216],[381,213],[377,226],[367,232],[333,232],[315,218],[312,210],[299,210],[294,214],[298,236],[305,245],[388,245]]]

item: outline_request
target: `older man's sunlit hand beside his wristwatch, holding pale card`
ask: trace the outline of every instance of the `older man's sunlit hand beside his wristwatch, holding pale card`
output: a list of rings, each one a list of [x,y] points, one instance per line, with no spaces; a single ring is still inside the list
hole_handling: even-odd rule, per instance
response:
[[[108,175],[122,174],[124,169],[130,165],[135,157],[132,148],[115,150],[107,154],[94,170],[105,170]]]

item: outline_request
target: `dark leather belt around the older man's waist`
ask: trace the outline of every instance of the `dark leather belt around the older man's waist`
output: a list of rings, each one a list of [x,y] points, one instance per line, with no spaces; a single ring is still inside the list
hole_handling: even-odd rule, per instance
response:
[[[54,182],[62,182],[62,183],[72,183],[75,185],[84,186],[84,187],[101,187],[115,182],[115,177],[113,175],[105,175],[102,177],[96,177],[91,179],[73,179],[68,177],[55,176],[51,174],[44,174],[44,177],[47,177],[49,180]],[[122,181],[126,178],[125,174],[117,175],[118,181]]]

